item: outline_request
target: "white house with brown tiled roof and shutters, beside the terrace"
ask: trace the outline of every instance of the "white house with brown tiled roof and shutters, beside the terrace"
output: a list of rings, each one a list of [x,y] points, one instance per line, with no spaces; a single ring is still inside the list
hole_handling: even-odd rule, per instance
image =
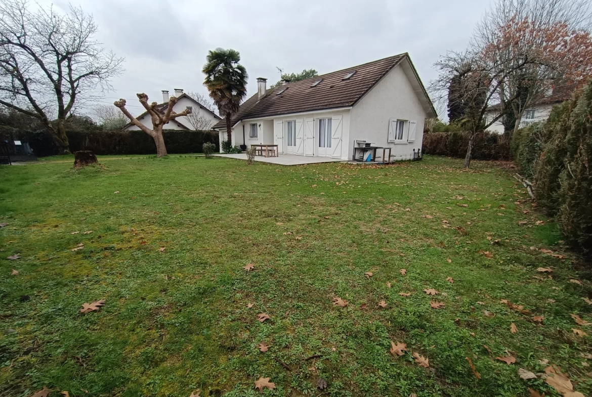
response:
[[[406,160],[422,149],[424,120],[436,117],[407,53],[271,89],[257,82],[258,93],[233,117],[234,146],[277,144],[279,154],[352,160],[364,140]],[[224,120],[214,130],[226,140]]]

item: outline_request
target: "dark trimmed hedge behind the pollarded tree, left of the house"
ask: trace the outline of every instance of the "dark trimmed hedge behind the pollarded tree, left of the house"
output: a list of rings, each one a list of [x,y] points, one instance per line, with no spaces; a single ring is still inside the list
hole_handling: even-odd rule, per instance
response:
[[[14,140],[28,141],[38,157],[57,153],[51,135],[45,131],[19,131],[3,127],[0,133]],[[70,151],[91,150],[95,154],[156,154],[152,137],[140,130],[131,131],[67,131]],[[213,143],[220,150],[218,135],[210,131],[164,130],[166,150],[174,153],[202,153],[204,143]]]

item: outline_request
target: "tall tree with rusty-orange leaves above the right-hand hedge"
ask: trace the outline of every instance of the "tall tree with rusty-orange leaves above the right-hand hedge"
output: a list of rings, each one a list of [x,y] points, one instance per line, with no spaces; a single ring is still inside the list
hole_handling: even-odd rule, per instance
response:
[[[569,95],[587,83],[590,17],[589,0],[499,0],[477,25],[474,45],[498,69],[512,70],[499,86],[507,133],[549,92],[563,89]]]

